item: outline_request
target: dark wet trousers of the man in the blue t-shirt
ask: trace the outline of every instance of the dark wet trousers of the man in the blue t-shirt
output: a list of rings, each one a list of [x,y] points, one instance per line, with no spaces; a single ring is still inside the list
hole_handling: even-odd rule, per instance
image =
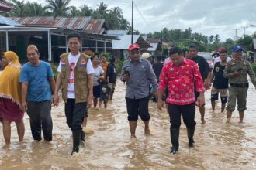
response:
[[[41,129],[43,129],[43,138],[46,141],[51,141],[53,138],[53,121],[50,115],[51,100],[41,102],[28,102],[27,113],[30,117],[30,128],[33,139],[40,141]]]

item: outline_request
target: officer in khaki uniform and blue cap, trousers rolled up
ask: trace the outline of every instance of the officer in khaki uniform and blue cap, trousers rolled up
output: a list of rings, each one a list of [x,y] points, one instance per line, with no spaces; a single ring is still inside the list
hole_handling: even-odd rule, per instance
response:
[[[235,110],[237,100],[237,110],[239,111],[239,123],[243,122],[244,110],[246,110],[246,97],[249,83],[247,73],[251,78],[251,82],[256,88],[255,73],[250,63],[242,59],[244,49],[241,46],[234,46],[234,59],[227,63],[224,70],[224,77],[229,80],[229,99],[227,104],[227,123],[230,122],[232,112]]]

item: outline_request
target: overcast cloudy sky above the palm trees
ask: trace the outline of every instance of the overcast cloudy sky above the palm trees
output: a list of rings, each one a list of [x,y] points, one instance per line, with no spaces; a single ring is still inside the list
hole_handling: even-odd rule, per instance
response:
[[[44,0],[29,0],[41,2]],[[109,8],[122,8],[124,18],[131,23],[130,0],[71,0],[70,5],[80,7],[83,4],[95,9],[100,2]],[[134,0],[134,29],[142,33],[168,29],[192,28],[192,32],[199,32],[210,36],[219,34],[220,39],[234,39],[237,36],[256,32],[256,0]],[[139,9],[141,15],[138,12]],[[254,25],[252,27],[250,25]]]

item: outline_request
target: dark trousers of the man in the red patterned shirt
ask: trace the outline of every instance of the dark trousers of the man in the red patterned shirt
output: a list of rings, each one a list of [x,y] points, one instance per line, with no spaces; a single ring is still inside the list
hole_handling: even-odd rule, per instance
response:
[[[168,112],[171,128],[179,128],[181,126],[181,114],[186,127],[195,128],[195,103],[187,105],[169,104]]]

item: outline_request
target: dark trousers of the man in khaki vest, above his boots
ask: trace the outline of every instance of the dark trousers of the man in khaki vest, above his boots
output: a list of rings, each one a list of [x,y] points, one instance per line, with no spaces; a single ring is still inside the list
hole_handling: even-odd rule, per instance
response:
[[[67,99],[65,114],[67,125],[71,128],[71,131],[81,131],[81,124],[84,121],[85,114],[87,115],[86,107],[86,102],[76,104],[75,99]]]

